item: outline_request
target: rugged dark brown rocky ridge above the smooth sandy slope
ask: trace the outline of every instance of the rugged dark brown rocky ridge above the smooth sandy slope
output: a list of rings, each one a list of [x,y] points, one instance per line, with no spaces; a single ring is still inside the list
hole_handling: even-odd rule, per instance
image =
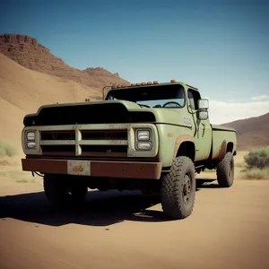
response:
[[[52,74],[91,88],[102,89],[111,84],[130,84],[118,74],[112,74],[101,67],[79,70],[66,65],[61,58],[54,56],[48,48],[39,44],[37,39],[26,35],[0,35],[0,53],[30,70]]]

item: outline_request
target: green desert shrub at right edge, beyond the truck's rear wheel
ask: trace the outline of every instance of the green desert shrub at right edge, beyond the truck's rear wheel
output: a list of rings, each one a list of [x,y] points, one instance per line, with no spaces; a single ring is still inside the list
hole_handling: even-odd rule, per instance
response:
[[[247,169],[269,168],[269,147],[253,149],[244,156],[244,160]]]

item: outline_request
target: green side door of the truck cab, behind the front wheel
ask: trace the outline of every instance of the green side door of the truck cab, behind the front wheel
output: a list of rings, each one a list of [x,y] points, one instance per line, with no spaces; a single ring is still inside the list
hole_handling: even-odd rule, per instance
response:
[[[212,146],[212,128],[209,119],[200,120],[198,114],[198,100],[200,92],[192,89],[187,90],[188,112],[191,114],[192,127],[195,137],[195,161],[203,161],[210,155]]]

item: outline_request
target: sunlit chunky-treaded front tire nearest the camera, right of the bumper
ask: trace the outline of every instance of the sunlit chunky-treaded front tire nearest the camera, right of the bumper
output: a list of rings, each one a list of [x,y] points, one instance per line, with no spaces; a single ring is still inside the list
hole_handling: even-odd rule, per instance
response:
[[[161,206],[171,219],[187,218],[195,205],[195,165],[186,156],[177,157],[161,178]]]

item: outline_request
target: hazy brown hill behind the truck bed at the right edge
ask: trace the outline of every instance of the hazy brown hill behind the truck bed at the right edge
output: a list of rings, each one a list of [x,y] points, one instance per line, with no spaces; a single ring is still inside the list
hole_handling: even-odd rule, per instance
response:
[[[239,151],[248,151],[253,147],[269,146],[269,113],[221,126],[232,127],[237,130]]]

